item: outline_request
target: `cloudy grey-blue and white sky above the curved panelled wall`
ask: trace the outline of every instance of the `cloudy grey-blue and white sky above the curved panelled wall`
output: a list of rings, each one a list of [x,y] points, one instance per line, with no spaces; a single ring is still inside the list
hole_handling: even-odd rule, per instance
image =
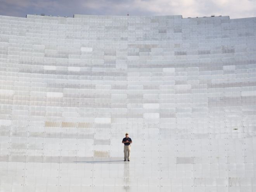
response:
[[[0,0],[0,15],[42,14],[124,16],[182,15],[184,17],[256,17],[256,0]]]

